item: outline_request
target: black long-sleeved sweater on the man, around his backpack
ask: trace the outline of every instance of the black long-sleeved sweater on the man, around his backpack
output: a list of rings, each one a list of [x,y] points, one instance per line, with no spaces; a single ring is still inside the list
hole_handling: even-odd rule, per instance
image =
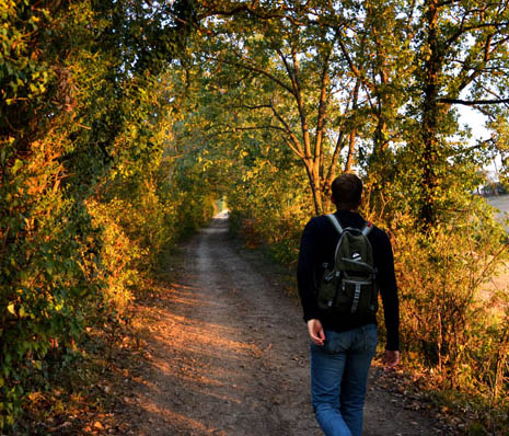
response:
[[[365,219],[348,210],[336,211],[343,228],[361,229]],[[382,296],[382,303],[387,332],[385,348],[400,349],[400,312],[396,277],[394,275],[394,257],[391,241],[386,233],[373,226],[368,236],[373,248],[374,264],[378,269],[377,283]],[[375,324],[375,315],[359,317],[354,314],[334,314],[320,310],[316,306],[316,283],[323,271],[322,265],[334,263],[334,253],[339,234],[325,216],[312,218],[304,228],[301,239],[297,282],[299,296],[304,311],[304,321],[319,319],[326,330],[343,332],[366,324]]]

